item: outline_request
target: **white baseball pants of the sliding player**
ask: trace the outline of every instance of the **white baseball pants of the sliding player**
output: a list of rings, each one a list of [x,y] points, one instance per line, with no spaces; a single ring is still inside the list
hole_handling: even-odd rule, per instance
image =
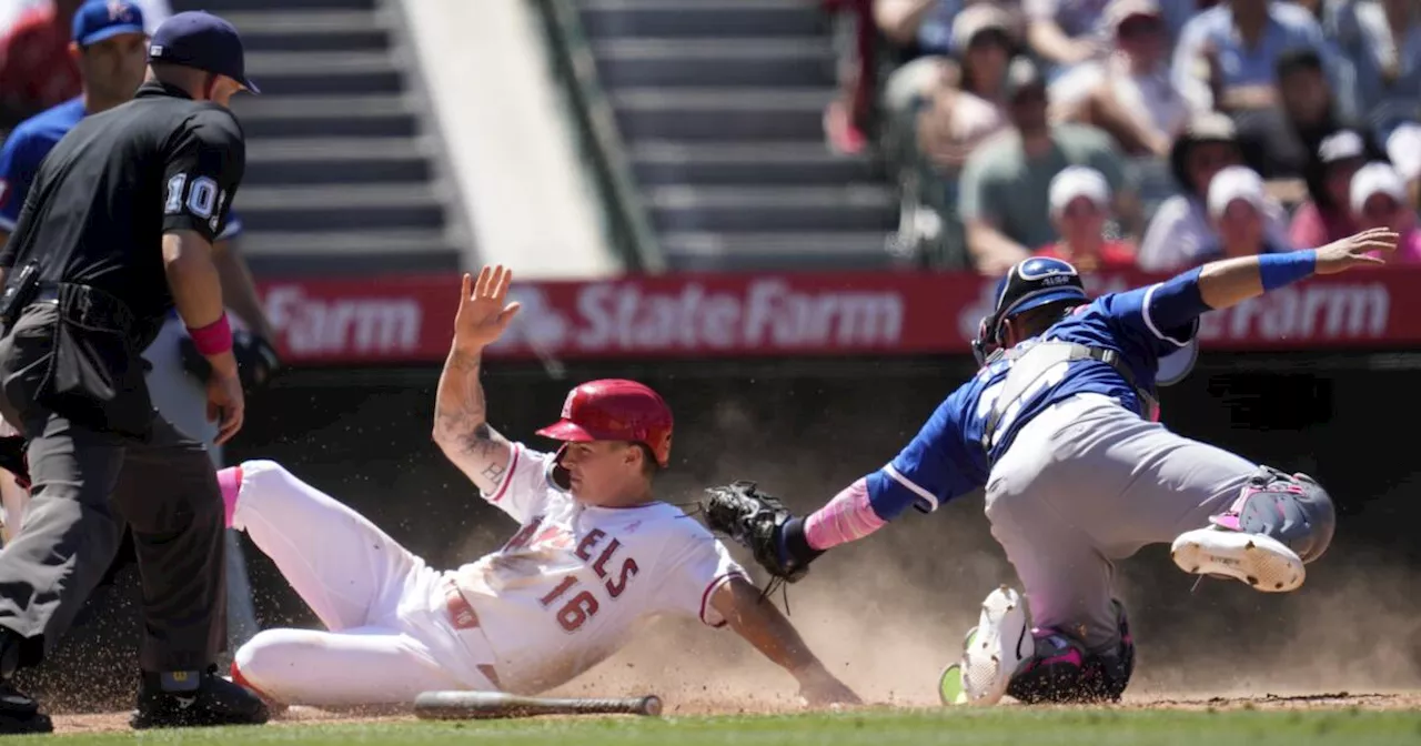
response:
[[[495,689],[476,668],[493,659],[487,642],[448,622],[441,573],[280,465],[252,460],[240,469],[232,527],[271,557],[330,629],[259,632],[237,649],[234,675],[243,683],[269,699],[311,706]]]

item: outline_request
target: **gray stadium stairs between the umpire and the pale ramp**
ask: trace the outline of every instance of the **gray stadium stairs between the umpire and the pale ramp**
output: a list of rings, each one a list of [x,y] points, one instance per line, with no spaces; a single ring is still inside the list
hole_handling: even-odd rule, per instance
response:
[[[242,31],[259,97],[234,207],[257,274],[453,270],[438,141],[382,0],[175,0]]]

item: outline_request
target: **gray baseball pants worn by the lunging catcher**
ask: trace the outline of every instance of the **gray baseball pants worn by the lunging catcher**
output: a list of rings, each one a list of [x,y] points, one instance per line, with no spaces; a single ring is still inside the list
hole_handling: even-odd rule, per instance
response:
[[[1208,526],[1256,470],[1114,399],[1081,394],[1022,426],[992,467],[986,516],[1033,624],[1074,635],[1090,651],[1113,649],[1113,563]]]

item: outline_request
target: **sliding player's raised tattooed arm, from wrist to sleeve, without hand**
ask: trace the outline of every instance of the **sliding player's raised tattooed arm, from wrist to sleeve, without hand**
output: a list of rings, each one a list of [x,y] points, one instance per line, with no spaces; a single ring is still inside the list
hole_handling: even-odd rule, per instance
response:
[[[486,494],[492,494],[509,467],[513,445],[485,421],[483,385],[479,384],[482,348],[449,350],[439,394],[435,398],[435,443]]]

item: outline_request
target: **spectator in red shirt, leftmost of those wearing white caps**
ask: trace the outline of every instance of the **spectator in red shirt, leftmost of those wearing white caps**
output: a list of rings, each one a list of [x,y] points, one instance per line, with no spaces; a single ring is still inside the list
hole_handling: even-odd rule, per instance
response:
[[[1135,266],[1135,247],[1106,237],[1110,219],[1110,183],[1090,166],[1067,166],[1052,179],[1052,223],[1060,240],[1036,256],[1064,259],[1080,271],[1124,270]]]

